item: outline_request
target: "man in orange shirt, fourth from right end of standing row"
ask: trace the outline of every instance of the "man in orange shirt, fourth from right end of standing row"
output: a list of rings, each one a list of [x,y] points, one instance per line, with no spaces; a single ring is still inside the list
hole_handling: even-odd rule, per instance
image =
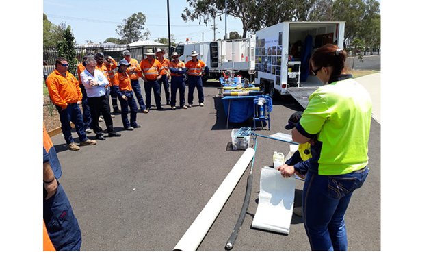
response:
[[[145,103],[147,110],[151,109],[151,88],[153,88],[157,110],[164,110],[161,108],[160,86],[157,82],[161,78],[160,72],[163,70],[163,66],[161,66],[159,60],[154,59],[155,53],[153,53],[153,49],[148,49],[144,55],[146,55],[146,59],[141,61],[140,66],[142,69],[142,79],[145,82]]]

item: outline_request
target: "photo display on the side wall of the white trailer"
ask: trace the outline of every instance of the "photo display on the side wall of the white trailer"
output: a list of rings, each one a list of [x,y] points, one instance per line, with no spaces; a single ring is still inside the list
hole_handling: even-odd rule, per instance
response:
[[[283,32],[277,38],[256,38],[256,70],[276,75],[280,85]]]

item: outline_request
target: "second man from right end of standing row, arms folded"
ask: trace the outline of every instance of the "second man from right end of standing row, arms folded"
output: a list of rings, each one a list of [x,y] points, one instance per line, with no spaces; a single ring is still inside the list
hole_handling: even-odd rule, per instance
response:
[[[187,109],[185,105],[185,83],[184,83],[184,73],[185,64],[178,59],[178,53],[172,53],[172,61],[169,62],[170,71],[170,88],[172,89],[172,95],[170,97],[170,106],[172,110],[177,109],[175,103],[177,103],[177,90],[180,94],[180,107]]]

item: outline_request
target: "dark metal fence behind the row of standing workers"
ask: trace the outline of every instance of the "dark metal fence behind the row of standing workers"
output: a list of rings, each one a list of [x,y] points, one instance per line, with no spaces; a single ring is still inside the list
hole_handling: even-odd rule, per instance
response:
[[[167,47],[167,46],[166,46]],[[77,54],[78,64],[83,62],[83,57],[87,54],[101,53],[104,56],[110,55],[114,60],[121,60],[122,51],[129,50],[131,58],[135,58],[140,62],[144,58],[144,53],[147,49],[153,49],[156,51],[157,47],[151,46],[140,46],[140,47],[130,47],[129,45],[88,45],[86,47],[75,47],[75,52]],[[55,69],[55,60],[58,57],[57,47],[43,47],[43,74],[47,77]],[[77,77],[77,76],[75,76]]]

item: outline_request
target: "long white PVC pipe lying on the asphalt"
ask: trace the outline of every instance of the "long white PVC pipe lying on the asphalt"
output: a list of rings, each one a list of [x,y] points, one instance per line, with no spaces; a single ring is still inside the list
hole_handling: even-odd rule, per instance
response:
[[[233,166],[231,172],[228,173],[222,184],[215,191],[214,195],[209,199],[205,208],[190,225],[181,240],[175,245],[174,251],[196,251],[200,242],[207,234],[215,218],[222,210],[224,203],[233,192],[233,189],[238,184],[239,179],[246,171],[254,156],[254,149],[248,148],[239,158],[238,162]]]

